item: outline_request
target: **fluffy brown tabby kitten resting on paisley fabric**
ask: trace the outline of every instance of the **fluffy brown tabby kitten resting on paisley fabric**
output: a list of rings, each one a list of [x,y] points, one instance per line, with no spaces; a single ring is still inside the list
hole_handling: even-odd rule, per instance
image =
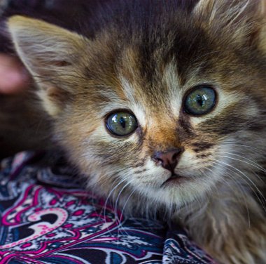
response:
[[[103,5],[83,35],[22,16],[7,25],[88,189],[167,211],[220,263],[258,264],[264,17],[262,0],[137,0]]]

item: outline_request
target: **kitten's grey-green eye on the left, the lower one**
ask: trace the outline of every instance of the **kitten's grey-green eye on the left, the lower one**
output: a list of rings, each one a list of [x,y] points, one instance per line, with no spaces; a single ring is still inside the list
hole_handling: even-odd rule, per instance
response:
[[[127,136],[137,128],[137,119],[129,112],[113,112],[106,119],[107,129],[116,136]]]

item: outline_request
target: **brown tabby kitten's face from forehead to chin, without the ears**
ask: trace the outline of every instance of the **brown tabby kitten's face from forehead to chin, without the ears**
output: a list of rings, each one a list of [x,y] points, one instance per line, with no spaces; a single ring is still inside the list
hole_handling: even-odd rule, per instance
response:
[[[265,53],[197,12],[170,14],[149,34],[110,27],[77,41],[73,62],[55,60],[66,74],[43,81],[46,108],[68,98],[52,112],[55,131],[89,186],[181,206],[264,161]]]

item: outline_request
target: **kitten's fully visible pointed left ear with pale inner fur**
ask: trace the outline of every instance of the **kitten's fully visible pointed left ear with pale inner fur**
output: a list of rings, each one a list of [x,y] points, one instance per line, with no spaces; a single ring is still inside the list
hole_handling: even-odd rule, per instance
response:
[[[87,40],[41,20],[15,15],[8,29],[20,59],[40,88],[45,109],[55,116],[80,77],[80,58]]]

